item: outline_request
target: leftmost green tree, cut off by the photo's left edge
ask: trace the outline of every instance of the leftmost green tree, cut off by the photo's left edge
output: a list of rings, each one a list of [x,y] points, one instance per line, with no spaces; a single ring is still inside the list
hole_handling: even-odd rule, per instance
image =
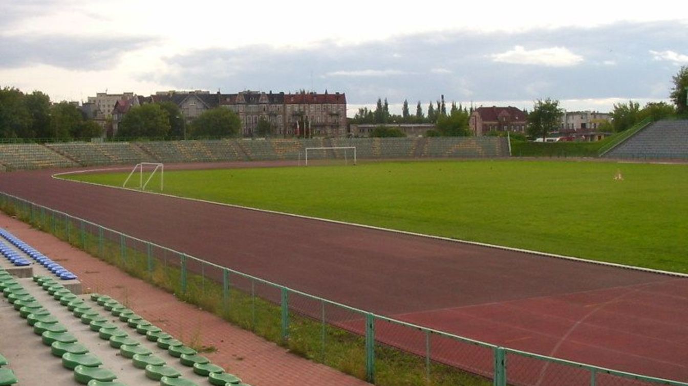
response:
[[[0,89],[0,137],[27,137],[32,125],[24,94],[14,87]]]

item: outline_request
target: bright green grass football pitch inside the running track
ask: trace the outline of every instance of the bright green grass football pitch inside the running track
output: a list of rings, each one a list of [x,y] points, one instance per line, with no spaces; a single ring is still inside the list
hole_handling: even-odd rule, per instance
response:
[[[614,179],[619,172],[623,180]],[[121,186],[127,174],[67,178]],[[153,179],[147,190],[158,188]],[[688,165],[400,161],[167,171],[164,193],[688,273]]]

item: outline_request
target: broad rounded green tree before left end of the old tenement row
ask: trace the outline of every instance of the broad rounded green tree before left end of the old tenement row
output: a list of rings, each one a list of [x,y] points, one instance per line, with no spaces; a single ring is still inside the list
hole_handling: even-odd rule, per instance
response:
[[[160,104],[150,103],[133,107],[119,123],[117,137],[166,137],[170,119]]]

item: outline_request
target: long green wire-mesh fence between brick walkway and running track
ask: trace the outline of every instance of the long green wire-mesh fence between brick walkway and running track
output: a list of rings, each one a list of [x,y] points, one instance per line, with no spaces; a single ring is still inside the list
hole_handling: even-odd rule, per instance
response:
[[[375,315],[2,192],[0,209],[292,352],[378,385],[408,376],[405,384],[688,386]]]

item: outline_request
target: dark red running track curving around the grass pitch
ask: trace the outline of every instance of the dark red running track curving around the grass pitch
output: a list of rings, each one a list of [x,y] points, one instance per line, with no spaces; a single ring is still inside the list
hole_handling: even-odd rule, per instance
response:
[[[260,164],[221,166],[247,165]],[[0,191],[379,315],[517,350],[688,381],[685,277],[83,185],[51,174],[0,173]],[[385,323],[376,329],[379,339],[405,341],[409,350],[424,353],[424,338],[408,329]],[[489,371],[491,352],[432,343],[442,361]],[[508,363],[510,383],[548,385],[554,374],[570,371],[516,357]],[[556,383],[577,384],[579,376]]]

